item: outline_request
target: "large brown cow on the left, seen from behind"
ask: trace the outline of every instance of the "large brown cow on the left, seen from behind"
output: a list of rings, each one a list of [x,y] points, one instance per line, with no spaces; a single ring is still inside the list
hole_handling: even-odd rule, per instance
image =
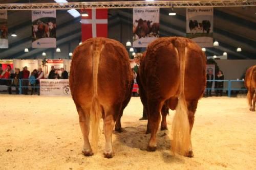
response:
[[[131,99],[133,88],[133,75],[125,47],[108,38],[84,41],[74,51],[69,80],[83,134],[82,153],[93,155],[89,142],[90,129],[93,150],[97,150],[99,120],[103,117],[104,157],[113,157],[112,130],[117,120],[115,130],[121,131],[120,118]]]

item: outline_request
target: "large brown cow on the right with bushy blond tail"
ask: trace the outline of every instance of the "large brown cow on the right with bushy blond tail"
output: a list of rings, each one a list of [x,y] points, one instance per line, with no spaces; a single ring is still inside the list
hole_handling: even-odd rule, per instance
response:
[[[156,150],[160,111],[167,101],[169,108],[176,109],[173,152],[193,157],[190,133],[198,100],[205,89],[205,61],[201,47],[187,38],[163,37],[148,45],[137,75],[148,115],[147,130],[151,131],[147,151]]]

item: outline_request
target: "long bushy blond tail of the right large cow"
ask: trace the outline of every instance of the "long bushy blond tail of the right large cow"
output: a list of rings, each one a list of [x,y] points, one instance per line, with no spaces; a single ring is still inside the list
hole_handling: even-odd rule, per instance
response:
[[[176,40],[175,46],[178,50],[180,63],[180,94],[179,101],[176,107],[176,113],[173,119],[173,153],[185,155],[190,147],[190,132],[187,116],[187,105],[184,94],[185,66],[186,66],[186,42],[184,40]]]

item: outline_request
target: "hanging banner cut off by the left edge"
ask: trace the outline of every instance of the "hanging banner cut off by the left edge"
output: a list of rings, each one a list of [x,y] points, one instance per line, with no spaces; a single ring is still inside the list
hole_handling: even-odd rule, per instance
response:
[[[0,10],[0,48],[8,48],[7,11]]]

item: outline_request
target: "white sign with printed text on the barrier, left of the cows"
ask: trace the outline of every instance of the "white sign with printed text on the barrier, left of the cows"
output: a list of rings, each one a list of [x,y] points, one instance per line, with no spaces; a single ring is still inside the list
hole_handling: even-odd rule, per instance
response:
[[[70,95],[69,80],[40,79],[41,95]]]

